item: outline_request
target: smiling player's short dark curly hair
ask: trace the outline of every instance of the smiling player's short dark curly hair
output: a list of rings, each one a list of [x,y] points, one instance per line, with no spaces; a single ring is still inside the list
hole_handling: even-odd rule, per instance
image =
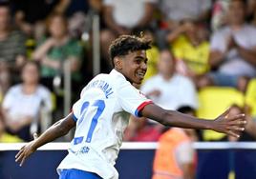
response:
[[[151,49],[151,40],[145,37],[135,35],[121,35],[114,40],[109,47],[109,55],[114,67],[114,58],[116,56],[126,55],[136,50]]]

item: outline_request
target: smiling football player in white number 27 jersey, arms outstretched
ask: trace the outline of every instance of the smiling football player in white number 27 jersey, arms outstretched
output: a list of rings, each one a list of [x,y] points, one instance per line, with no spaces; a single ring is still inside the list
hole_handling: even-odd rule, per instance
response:
[[[150,41],[131,35],[118,37],[110,46],[114,70],[98,74],[82,91],[73,111],[16,154],[20,166],[40,146],[76,127],[69,154],[57,168],[60,179],[117,179],[114,168],[128,125],[128,113],[145,116],[163,125],[191,129],[213,129],[239,137],[245,115],[228,115],[203,120],[161,109],[132,84],[140,84],[147,70],[146,50]]]

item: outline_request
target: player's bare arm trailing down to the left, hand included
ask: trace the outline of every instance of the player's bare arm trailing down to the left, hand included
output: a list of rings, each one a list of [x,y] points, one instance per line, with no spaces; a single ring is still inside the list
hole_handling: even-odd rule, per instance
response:
[[[32,142],[28,143],[22,147],[16,154],[16,162],[23,165],[25,160],[39,147],[52,142],[54,139],[66,135],[70,129],[75,127],[75,121],[73,119],[73,112],[71,112],[65,118],[57,121],[52,127],[47,129],[40,137],[34,139]]]

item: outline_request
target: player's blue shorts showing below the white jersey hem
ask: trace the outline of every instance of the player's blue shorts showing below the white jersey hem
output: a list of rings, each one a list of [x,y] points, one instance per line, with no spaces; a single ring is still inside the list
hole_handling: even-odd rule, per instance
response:
[[[63,169],[60,172],[59,179],[102,179],[96,173],[80,169]]]

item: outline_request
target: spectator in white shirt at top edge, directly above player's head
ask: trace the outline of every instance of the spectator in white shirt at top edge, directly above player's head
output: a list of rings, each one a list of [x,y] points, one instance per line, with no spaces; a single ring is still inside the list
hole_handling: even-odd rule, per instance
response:
[[[152,20],[155,2],[155,0],[140,0],[133,3],[129,0],[105,0],[105,22],[117,35],[148,27]]]

